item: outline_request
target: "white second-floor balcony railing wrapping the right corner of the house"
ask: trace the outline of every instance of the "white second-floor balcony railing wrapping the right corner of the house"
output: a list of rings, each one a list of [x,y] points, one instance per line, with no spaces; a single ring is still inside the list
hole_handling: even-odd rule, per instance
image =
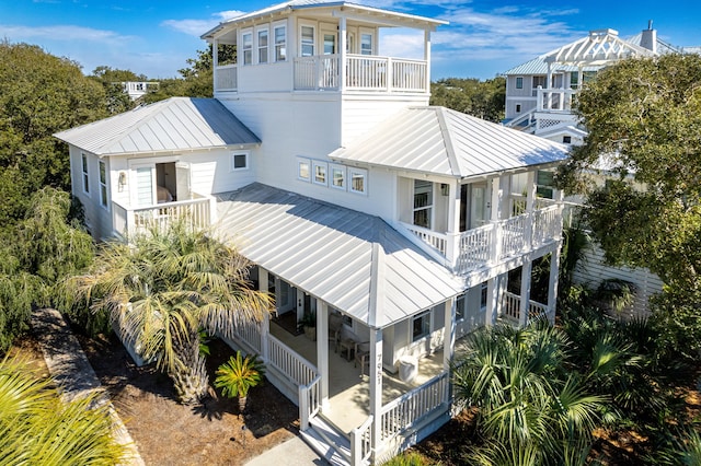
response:
[[[559,238],[562,231],[562,206],[539,202],[539,207],[541,208],[530,213],[492,221],[459,235],[402,224],[453,264],[456,273],[463,275]],[[453,245],[453,241],[457,244]]]

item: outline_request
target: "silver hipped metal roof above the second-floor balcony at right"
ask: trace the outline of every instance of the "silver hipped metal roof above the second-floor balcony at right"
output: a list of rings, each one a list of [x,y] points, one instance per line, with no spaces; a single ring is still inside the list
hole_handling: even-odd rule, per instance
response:
[[[411,107],[329,156],[466,178],[559,162],[567,148],[449,108]]]

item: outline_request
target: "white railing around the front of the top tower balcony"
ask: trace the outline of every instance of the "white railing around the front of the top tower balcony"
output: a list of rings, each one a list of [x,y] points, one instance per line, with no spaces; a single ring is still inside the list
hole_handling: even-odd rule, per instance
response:
[[[338,90],[340,56],[295,58],[295,90]],[[428,92],[428,66],[407,60],[367,55],[346,56],[345,89],[354,91]]]

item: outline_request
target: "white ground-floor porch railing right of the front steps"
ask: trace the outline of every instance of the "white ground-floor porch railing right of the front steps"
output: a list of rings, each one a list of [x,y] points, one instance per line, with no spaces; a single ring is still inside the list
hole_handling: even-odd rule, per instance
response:
[[[382,441],[393,439],[441,404],[448,403],[449,382],[448,373],[443,373],[384,405],[380,411]]]

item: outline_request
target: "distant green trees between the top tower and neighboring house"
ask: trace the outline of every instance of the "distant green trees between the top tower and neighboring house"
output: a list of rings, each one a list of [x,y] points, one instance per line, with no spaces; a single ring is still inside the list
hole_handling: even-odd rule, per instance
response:
[[[504,119],[506,79],[446,78],[430,84],[430,105],[462,112],[487,121]]]

